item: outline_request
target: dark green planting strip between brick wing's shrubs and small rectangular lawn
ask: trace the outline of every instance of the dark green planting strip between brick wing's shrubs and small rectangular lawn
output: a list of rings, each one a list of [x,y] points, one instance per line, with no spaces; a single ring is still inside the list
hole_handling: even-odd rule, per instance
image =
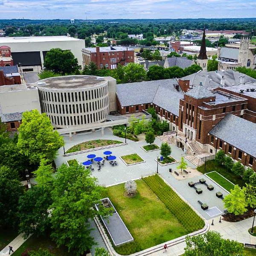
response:
[[[201,173],[207,172],[218,172],[220,175],[224,176],[226,179],[230,180],[234,184],[238,184],[241,188],[245,186],[244,180],[233,172],[227,170],[225,166],[219,165],[215,160],[210,160],[206,162],[206,171],[204,172],[204,165],[198,166],[198,171]]]

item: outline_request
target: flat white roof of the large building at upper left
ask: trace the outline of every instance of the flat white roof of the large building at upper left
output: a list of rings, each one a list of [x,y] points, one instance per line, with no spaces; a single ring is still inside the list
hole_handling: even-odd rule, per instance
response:
[[[26,37],[1,37],[0,44],[3,43],[29,43],[29,42],[58,42],[58,41],[83,41],[66,35],[60,36],[26,36]]]

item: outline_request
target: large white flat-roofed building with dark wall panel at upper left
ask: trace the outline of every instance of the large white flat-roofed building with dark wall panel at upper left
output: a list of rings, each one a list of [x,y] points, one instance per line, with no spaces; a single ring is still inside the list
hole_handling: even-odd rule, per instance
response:
[[[0,46],[9,46],[12,52],[14,64],[38,70],[44,66],[44,58],[52,48],[70,50],[79,65],[82,66],[82,48],[84,40],[67,36],[33,36],[33,37],[3,37],[0,38]],[[33,71],[33,70],[25,70]]]

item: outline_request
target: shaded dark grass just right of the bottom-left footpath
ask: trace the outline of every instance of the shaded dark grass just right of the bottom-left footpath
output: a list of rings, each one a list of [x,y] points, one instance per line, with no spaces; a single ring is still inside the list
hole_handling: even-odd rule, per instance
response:
[[[48,249],[52,254],[56,256],[72,256],[74,253],[68,253],[67,247],[57,248],[56,244],[49,238],[44,237],[30,237],[26,240],[14,253],[13,256],[20,256],[26,249],[38,250],[39,248]]]

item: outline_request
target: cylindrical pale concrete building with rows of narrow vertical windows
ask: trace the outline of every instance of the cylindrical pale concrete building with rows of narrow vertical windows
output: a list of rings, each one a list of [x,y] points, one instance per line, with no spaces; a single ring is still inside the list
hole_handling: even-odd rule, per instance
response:
[[[38,81],[42,113],[55,128],[106,121],[110,111],[109,77],[58,76]],[[115,87],[115,79],[110,82]],[[114,88],[115,89],[115,88]],[[110,91],[113,90],[110,88]]]

